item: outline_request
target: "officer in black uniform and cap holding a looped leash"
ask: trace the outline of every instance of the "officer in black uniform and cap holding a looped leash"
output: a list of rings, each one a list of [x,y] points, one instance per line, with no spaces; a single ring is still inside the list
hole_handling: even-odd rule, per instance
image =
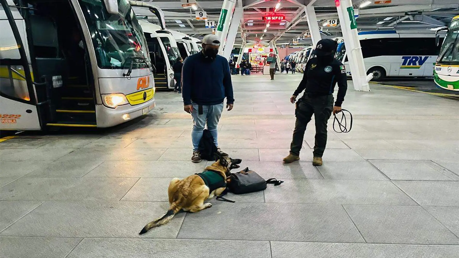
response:
[[[284,163],[292,163],[300,159],[304,132],[314,115],[316,135],[314,146],[314,166],[322,165],[322,155],[327,144],[327,122],[331,116],[341,112],[341,104],[347,91],[347,76],[344,65],[336,60],[336,41],[322,39],[317,43],[311,58],[304,69],[303,79],[297,90],[290,98],[291,103],[297,101],[297,96],[304,90],[304,95],[298,100],[295,109],[297,121],[290,154],[284,158]],[[333,105],[333,91],[338,83],[338,95]]]

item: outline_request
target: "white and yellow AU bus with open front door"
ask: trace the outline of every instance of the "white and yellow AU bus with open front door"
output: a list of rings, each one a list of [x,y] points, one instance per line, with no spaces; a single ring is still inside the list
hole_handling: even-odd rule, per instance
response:
[[[135,1],[0,3],[0,129],[111,127],[155,107]]]

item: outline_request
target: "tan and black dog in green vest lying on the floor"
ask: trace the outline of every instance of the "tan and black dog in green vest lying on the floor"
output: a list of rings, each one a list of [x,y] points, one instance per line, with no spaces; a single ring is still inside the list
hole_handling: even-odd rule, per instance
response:
[[[240,168],[241,159],[232,159],[215,154],[215,163],[205,168],[204,172],[190,175],[185,179],[174,178],[169,183],[169,210],[161,218],[151,221],[140,231],[145,234],[151,228],[167,224],[180,210],[195,213],[211,208],[207,199],[220,195],[226,189],[226,180],[233,168]]]

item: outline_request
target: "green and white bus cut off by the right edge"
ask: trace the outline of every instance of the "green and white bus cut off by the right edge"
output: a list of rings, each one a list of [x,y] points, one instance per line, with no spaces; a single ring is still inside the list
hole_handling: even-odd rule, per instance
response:
[[[459,91],[459,16],[453,18],[447,31],[435,64],[434,81],[442,89]]]

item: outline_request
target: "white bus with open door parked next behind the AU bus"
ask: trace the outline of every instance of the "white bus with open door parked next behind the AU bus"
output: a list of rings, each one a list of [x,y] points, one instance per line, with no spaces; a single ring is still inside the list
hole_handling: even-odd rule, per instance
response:
[[[156,89],[174,89],[174,67],[180,56],[179,48],[169,30],[161,29],[160,26],[151,22],[140,21],[144,31],[151,63],[153,64],[153,76]]]

